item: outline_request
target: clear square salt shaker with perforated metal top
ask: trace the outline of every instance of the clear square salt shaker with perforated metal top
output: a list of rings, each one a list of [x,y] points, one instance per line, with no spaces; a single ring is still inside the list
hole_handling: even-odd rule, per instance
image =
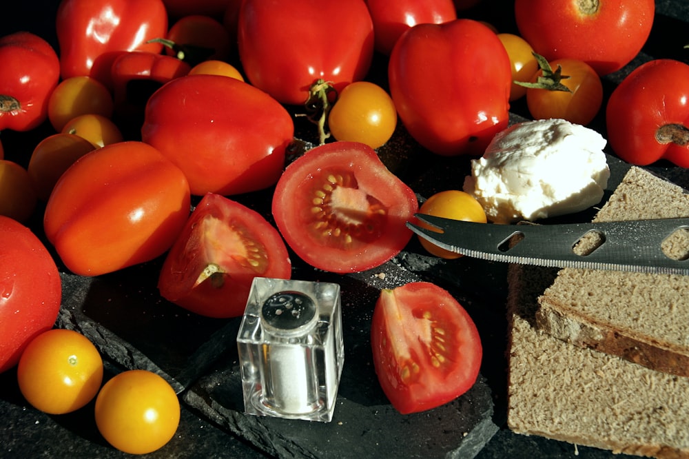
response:
[[[344,360],[338,284],[254,278],[237,344],[247,414],[332,419]]]

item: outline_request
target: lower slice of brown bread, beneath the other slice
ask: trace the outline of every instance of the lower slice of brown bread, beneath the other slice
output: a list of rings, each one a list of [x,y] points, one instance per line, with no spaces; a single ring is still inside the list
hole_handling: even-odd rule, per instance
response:
[[[677,192],[674,185],[635,168],[624,183],[630,185],[617,188],[611,206],[639,199],[659,203],[660,194]],[[654,196],[646,196],[649,186]],[[644,215],[632,212],[627,218]],[[508,427],[615,453],[689,458],[689,378],[573,345],[537,328],[538,297],[557,274],[557,269],[525,265],[509,269]],[[643,280],[668,282],[655,276]],[[628,285],[617,292],[637,301]]]

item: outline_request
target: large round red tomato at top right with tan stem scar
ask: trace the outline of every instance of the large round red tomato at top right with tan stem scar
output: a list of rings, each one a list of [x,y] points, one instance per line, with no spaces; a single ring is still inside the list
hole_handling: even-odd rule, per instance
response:
[[[654,15],[654,0],[515,1],[517,28],[535,52],[584,61],[601,76],[639,54]]]

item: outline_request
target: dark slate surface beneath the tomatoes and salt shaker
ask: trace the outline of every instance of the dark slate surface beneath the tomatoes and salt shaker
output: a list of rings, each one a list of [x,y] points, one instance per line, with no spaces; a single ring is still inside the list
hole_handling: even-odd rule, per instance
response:
[[[14,3],[12,20],[3,21],[0,34],[32,30],[56,43],[57,3]],[[501,31],[515,32],[512,5],[508,0],[484,0],[483,6],[466,14],[487,19]],[[689,52],[681,48],[689,43],[689,1],[659,0],[656,7],[656,24],[644,51],[627,68],[606,77],[606,95],[632,68],[652,57],[689,60]],[[496,10],[504,15],[496,18]],[[385,86],[384,74],[384,59],[378,57],[371,79]],[[512,121],[521,121],[524,102],[515,103],[512,111]],[[602,116],[593,126],[604,133]],[[310,126],[298,125],[298,129],[302,137],[310,135]],[[3,132],[6,156],[27,163],[32,147],[50,132],[49,126],[32,137]],[[429,155],[402,128],[380,149],[380,156],[420,198],[460,188],[469,172],[466,158]],[[627,166],[613,156],[610,165],[612,190]],[[662,163],[650,169],[689,187],[686,170]],[[238,196],[238,201],[269,217],[269,196],[268,190]],[[570,218],[586,221],[590,212]],[[40,226],[37,216],[32,227],[39,234]],[[161,300],[155,287],[161,260],[98,278],[81,278],[61,269],[64,304],[57,325],[77,329],[94,341],[105,358],[106,378],[123,369],[145,368],[161,374],[176,389],[183,407],[180,427],[165,447],[147,457],[624,457],[506,429],[505,265],[466,257],[440,261],[426,256],[415,239],[392,261],[349,276],[320,272],[294,256],[293,261],[294,278],[342,285],[345,366],[330,423],[245,416],[235,342],[239,319],[203,318]],[[476,385],[464,396],[438,409],[402,416],[391,408],[373,373],[369,323],[381,288],[415,280],[438,283],[464,305],[480,330],[484,361]],[[93,404],[63,416],[36,411],[19,393],[14,369],[0,374],[0,389],[1,458],[127,456],[98,433]]]

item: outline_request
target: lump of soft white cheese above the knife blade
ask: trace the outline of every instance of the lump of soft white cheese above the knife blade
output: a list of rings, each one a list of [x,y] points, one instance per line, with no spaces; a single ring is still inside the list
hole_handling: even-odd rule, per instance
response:
[[[605,145],[598,132],[562,119],[518,123],[471,160],[464,191],[493,223],[579,212],[603,197],[610,177]]]

